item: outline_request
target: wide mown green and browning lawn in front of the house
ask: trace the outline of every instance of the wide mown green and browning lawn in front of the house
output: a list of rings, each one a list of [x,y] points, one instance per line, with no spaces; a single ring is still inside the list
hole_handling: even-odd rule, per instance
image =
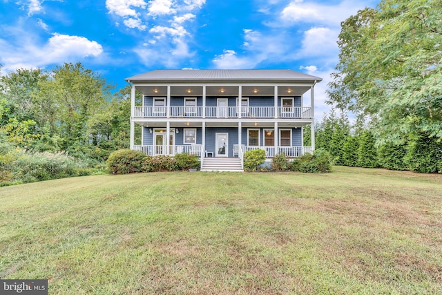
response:
[[[96,175],[0,204],[0,277],[50,294],[442,294],[442,175]]]

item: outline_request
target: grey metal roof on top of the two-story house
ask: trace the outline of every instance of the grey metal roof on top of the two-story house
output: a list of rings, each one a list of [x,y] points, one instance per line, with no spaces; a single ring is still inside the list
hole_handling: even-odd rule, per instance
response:
[[[294,70],[152,70],[127,82],[320,82],[322,78]]]

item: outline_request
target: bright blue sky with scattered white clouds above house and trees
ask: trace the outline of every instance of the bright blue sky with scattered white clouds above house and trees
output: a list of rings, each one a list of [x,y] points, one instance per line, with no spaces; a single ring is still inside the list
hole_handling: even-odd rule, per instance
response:
[[[0,0],[0,64],[81,61],[122,88],[159,68],[289,68],[323,78],[338,62],[340,22],[378,0]]]

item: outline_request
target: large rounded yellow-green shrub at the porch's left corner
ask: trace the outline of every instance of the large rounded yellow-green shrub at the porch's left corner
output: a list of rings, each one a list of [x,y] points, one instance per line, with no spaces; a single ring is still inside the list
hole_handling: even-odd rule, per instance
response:
[[[106,161],[106,164],[109,173],[136,173],[143,172],[145,159],[146,154],[142,151],[122,149],[111,153],[108,160]]]

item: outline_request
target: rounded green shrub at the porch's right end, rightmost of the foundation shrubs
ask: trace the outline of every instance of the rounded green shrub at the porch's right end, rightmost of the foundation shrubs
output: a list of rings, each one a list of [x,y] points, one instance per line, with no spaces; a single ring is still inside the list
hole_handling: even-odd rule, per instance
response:
[[[318,149],[313,154],[305,153],[296,158],[290,168],[304,173],[327,173],[332,169],[332,156],[328,151]]]

